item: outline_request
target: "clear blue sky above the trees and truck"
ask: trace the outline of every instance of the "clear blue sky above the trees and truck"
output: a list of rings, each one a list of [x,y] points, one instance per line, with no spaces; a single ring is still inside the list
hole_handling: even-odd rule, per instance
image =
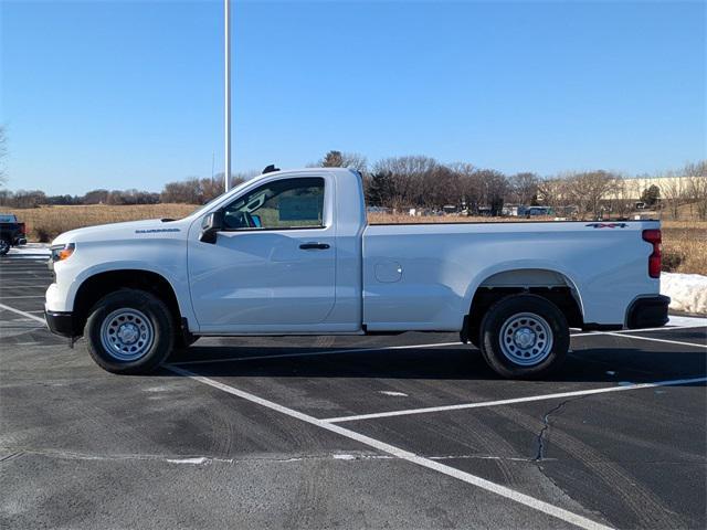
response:
[[[234,171],[422,153],[513,173],[706,155],[697,2],[234,2]],[[223,169],[221,1],[0,0],[11,189]]]

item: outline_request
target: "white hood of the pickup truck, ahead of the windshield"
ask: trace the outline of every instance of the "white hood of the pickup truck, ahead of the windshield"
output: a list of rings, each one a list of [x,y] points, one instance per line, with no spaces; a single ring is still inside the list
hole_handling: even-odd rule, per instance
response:
[[[175,236],[179,235],[182,232],[186,232],[188,225],[189,221],[187,219],[168,222],[162,222],[159,219],[148,219],[145,221],[128,221],[125,223],[99,224],[96,226],[86,226],[85,229],[76,229],[64,232],[52,242],[52,245],[105,241],[113,239],[125,240],[155,235]]]

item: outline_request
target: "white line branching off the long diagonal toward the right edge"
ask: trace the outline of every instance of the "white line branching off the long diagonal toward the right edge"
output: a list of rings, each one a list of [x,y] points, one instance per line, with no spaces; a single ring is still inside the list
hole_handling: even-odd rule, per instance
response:
[[[457,405],[428,406],[424,409],[408,409],[405,411],[388,411],[388,412],[378,412],[372,414],[358,414],[356,416],[326,417],[326,418],[323,418],[321,421],[327,423],[358,422],[361,420],[376,420],[379,417],[408,416],[412,414],[426,414],[430,412],[444,412],[444,411],[461,411],[465,409],[483,409],[487,406],[511,405],[515,403],[528,403],[531,401],[559,400],[561,398],[574,398],[579,395],[604,394],[606,392],[623,392],[626,390],[654,389],[656,386],[676,386],[680,384],[704,383],[704,382],[707,382],[707,378],[674,379],[669,381],[657,381],[655,383],[635,383],[635,384],[625,384],[622,386],[604,386],[601,389],[577,390],[573,392],[559,392],[556,394],[529,395],[526,398],[514,398],[510,400],[482,401],[479,403],[461,403]]]

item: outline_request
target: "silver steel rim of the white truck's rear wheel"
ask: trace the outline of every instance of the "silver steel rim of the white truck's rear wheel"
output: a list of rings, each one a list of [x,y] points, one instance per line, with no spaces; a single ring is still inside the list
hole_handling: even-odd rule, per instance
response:
[[[520,367],[538,364],[552,351],[552,329],[545,318],[534,312],[508,318],[500,327],[498,339],[506,359]]]

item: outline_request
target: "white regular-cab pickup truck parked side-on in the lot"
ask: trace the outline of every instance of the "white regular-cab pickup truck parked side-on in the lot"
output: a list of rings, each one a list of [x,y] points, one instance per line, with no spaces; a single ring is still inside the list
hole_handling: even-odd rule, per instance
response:
[[[361,177],[275,171],[179,221],[66,232],[50,329],[145,373],[199,337],[453,331],[502,377],[557,368],[570,327],[663,326],[657,221],[370,225]]]

